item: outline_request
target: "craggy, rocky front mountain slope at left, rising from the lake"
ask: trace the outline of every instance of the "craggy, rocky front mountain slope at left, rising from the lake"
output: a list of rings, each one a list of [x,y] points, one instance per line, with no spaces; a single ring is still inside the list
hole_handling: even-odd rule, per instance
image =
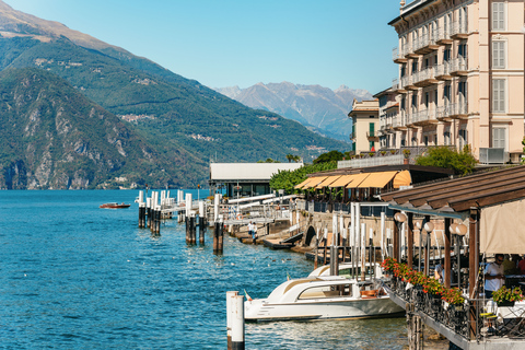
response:
[[[0,188],[179,185],[167,177],[179,156],[170,161],[120,118],[44,70],[0,72],[0,122],[10,126],[0,129]]]

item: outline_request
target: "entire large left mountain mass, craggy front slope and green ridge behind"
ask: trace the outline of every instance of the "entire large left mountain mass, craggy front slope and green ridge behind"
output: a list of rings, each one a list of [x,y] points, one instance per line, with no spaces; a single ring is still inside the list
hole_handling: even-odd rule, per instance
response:
[[[348,150],[1,0],[0,83],[0,188],[194,187],[211,161]]]

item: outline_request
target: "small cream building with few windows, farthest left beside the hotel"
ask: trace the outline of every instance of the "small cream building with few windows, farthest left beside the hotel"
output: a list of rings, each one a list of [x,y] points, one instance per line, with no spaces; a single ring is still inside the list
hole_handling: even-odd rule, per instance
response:
[[[352,118],[352,151],[355,153],[375,151],[380,143],[378,137],[380,103],[373,101],[353,100],[352,110],[348,114]]]

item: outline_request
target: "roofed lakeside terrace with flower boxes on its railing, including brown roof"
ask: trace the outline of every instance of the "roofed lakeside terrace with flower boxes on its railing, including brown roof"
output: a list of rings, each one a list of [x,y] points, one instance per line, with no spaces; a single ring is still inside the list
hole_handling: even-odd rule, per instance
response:
[[[525,346],[523,178],[516,166],[381,196],[396,212],[393,300],[462,349]]]

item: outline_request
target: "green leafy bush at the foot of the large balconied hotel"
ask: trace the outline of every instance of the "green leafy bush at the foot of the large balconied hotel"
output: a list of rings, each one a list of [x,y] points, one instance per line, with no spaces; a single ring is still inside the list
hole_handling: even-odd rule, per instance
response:
[[[460,152],[446,145],[431,148],[427,154],[418,156],[416,160],[417,165],[452,168],[456,175],[472,173],[476,163],[468,145],[465,145]]]

